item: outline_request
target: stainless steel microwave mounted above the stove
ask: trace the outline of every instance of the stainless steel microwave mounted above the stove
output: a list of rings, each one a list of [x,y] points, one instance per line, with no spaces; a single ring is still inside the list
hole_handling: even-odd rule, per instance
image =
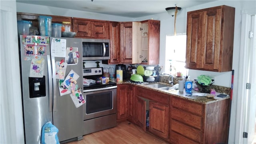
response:
[[[83,60],[109,60],[110,40],[82,39]]]

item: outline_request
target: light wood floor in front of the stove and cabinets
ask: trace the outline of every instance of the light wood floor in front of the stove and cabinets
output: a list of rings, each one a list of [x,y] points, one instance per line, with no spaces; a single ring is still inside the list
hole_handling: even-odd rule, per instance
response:
[[[168,144],[153,135],[144,132],[142,128],[122,122],[114,128],[109,128],[83,136],[83,140],[68,144]]]

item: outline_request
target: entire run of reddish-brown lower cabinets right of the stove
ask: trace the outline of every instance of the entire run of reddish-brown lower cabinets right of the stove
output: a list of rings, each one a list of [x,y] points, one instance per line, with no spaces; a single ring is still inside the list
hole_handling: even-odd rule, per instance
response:
[[[229,99],[202,104],[132,84],[117,88],[117,122],[129,120],[171,144],[227,143],[229,105]]]

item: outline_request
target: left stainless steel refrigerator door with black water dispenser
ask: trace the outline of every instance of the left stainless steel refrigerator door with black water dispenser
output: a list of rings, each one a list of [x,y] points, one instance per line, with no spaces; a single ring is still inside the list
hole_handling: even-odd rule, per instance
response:
[[[29,37],[26,38],[29,39]],[[28,46],[32,46],[33,52],[28,52]],[[49,80],[51,81],[51,78],[49,78],[49,76],[51,77],[50,44],[43,47],[46,53],[38,56],[34,54],[37,46],[25,41],[25,36],[20,36],[20,72],[26,144],[40,144],[43,125],[49,121],[53,122],[51,86],[49,85],[51,83],[49,82]],[[30,71],[34,70],[33,67],[30,67],[33,65],[32,60],[37,56],[40,62],[44,62],[43,78],[30,77]]]

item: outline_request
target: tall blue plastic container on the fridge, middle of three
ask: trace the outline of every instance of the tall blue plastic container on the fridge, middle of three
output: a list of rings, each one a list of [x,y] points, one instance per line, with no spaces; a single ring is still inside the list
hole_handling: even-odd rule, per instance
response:
[[[38,16],[40,36],[52,36],[52,17]]]

